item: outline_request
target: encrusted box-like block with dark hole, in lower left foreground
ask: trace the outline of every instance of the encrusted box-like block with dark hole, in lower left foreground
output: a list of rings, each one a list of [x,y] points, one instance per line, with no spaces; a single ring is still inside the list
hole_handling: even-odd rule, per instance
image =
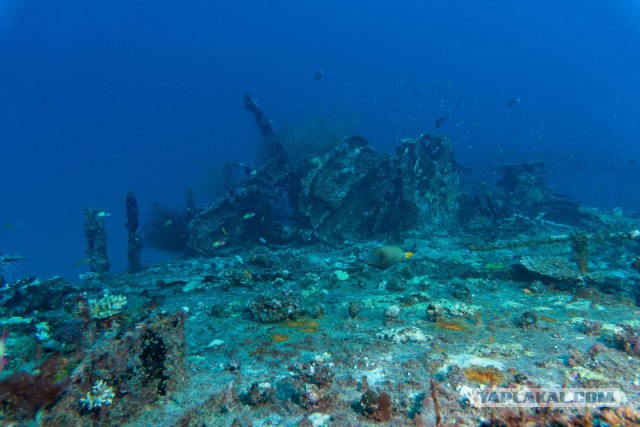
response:
[[[145,408],[161,396],[178,390],[184,378],[185,320],[183,310],[173,315],[154,312],[137,322],[123,322],[117,326],[117,333],[97,330],[109,339],[96,340],[89,335],[91,331],[87,331],[85,347],[76,353],[81,359],[75,362],[74,369],[62,383],[59,400],[55,405],[49,404],[39,421],[42,425],[128,425],[146,413]],[[66,371],[57,368],[52,377],[64,375]],[[97,374],[105,384],[95,383]],[[94,391],[96,385],[99,387]],[[41,391],[34,395],[44,393],[47,387],[49,384],[40,385]],[[109,387],[113,388],[113,394],[118,390],[118,396],[122,393],[126,397],[109,397]],[[88,389],[92,392],[87,397]],[[90,404],[100,395],[103,409],[106,401],[112,399],[108,411],[90,409]],[[86,403],[79,405],[81,396]]]

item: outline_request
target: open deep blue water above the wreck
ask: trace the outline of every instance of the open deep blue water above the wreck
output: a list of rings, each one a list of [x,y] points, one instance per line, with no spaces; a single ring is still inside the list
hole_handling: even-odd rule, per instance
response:
[[[83,272],[85,206],[121,271],[127,190],[144,221],[258,161],[244,93],[276,128],[337,109],[380,151],[446,135],[487,186],[545,160],[558,192],[640,210],[638,69],[632,0],[0,0],[0,252],[27,257],[7,276]]]

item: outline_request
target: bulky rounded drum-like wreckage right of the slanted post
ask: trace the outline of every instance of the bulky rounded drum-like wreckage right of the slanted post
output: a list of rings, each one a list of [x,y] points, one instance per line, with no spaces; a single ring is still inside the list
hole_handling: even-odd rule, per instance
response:
[[[351,135],[298,172],[302,229],[327,243],[451,225],[458,178],[445,138],[406,140],[395,157]]]

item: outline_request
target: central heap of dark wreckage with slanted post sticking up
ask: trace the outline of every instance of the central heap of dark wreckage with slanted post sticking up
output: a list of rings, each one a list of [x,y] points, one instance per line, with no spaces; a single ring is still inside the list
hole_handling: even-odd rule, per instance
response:
[[[448,139],[408,139],[392,157],[350,135],[323,154],[289,159],[257,102],[245,95],[244,104],[265,143],[266,163],[189,222],[197,253],[213,255],[222,240],[342,244],[454,224],[458,177]],[[244,221],[246,212],[255,215]]]

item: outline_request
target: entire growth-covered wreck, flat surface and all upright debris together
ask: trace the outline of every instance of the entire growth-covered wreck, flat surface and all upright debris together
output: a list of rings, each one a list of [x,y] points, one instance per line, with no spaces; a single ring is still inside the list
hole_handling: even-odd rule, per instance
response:
[[[127,193],[127,271],[89,207],[87,273],[2,280],[3,424],[640,423],[637,214],[554,195],[544,162],[469,192],[428,133],[291,159],[244,106],[263,164],[209,206],[158,206],[146,232]],[[145,243],[179,256],[145,265]],[[492,389],[625,400],[479,405]]]

